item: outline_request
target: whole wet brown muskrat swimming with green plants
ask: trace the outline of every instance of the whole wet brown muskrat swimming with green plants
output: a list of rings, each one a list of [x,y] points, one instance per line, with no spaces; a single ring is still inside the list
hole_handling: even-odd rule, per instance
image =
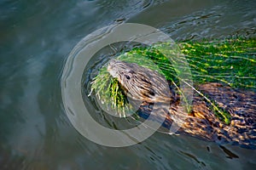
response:
[[[108,72],[112,77],[118,78],[121,87],[129,92],[132,99],[143,101],[139,110],[144,114],[150,114],[152,111],[151,107],[145,106],[147,104],[170,102],[170,108],[165,111],[163,127],[171,127],[172,122],[177,122],[178,116],[184,115],[180,113],[179,94],[175,93],[173,88],[167,93],[166,89],[161,89],[161,83],[166,80],[157,71],[135,63],[112,59],[108,64]],[[152,79],[153,81],[150,81]],[[187,133],[218,144],[239,144],[241,147],[256,149],[255,93],[233,89],[218,82],[201,84],[196,88],[230,114],[230,123],[221,121],[206,99],[194,92],[191,110],[185,113],[185,119],[177,133]],[[157,100],[154,99],[155,91],[160,95]]]

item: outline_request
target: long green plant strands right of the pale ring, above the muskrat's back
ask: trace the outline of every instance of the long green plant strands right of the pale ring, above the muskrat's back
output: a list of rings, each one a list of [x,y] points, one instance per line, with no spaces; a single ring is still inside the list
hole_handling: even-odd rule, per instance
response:
[[[233,88],[256,88],[256,39],[181,42],[195,82],[223,82]]]

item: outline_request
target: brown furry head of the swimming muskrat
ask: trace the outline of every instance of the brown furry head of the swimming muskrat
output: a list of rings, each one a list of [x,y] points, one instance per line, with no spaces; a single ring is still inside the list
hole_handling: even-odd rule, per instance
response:
[[[113,59],[108,64],[108,72],[118,78],[125,93],[131,99],[148,103],[169,102],[170,88],[165,77],[135,63]]]

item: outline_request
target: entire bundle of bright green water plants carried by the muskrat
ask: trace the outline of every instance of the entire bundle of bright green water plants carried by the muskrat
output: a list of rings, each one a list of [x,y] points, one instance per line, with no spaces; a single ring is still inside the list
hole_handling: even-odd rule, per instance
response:
[[[168,45],[162,43],[149,48],[133,48],[129,52],[120,54],[116,59],[159,71],[179,91],[177,69],[173,67],[173,62],[176,61],[161,53]],[[256,89],[256,39],[180,42],[178,47],[182,54],[179,54],[177,59],[186,59],[189,63],[195,84],[221,82],[232,88]],[[129,105],[118,80],[108,73],[107,66],[103,66],[94,78],[91,90],[104,105],[114,109],[120,117],[127,116],[132,111],[132,106]],[[204,94],[201,95],[207,99],[224,122],[230,122],[228,113],[219,110],[218,105]]]

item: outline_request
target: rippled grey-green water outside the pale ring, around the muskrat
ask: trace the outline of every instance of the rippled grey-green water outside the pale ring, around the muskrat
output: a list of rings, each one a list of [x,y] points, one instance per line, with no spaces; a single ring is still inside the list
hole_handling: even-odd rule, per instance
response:
[[[255,5],[238,0],[2,0],[0,169],[254,169],[255,150],[189,136],[154,133],[125,148],[85,139],[63,109],[61,72],[83,37],[118,22],[154,26],[175,41],[255,37]]]

